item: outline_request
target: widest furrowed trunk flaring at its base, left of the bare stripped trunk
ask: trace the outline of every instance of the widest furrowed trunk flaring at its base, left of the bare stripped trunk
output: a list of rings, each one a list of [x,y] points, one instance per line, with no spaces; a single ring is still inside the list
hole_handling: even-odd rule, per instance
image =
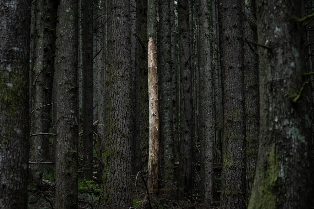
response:
[[[132,203],[133,74],[131,71],[130,2],[107,2],[106,141],[100,201],[111,208]]]

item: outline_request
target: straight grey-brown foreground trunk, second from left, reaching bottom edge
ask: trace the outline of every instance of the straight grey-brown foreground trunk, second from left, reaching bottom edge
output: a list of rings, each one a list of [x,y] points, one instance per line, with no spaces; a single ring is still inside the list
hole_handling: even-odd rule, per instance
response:
[[[77,208],[78,1],[61,0],[58,9],[56,208]]]

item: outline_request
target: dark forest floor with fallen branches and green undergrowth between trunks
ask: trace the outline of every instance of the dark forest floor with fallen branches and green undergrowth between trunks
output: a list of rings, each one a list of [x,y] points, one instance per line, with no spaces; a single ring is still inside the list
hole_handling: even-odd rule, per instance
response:
[[[196,188],[192,191],[190,198],[180,200],[178,198],[182,193],[174,185],[163,182],[161,187],[164,189],[160,192],[158,197],[150,197],[147,199],[145,180],[141,177],[134,176],[133,181],[133,208],[144,209],[144,208],[157,208],[157,209],[168,209],[168,208],[181,208],[181,209],[203,209],[203,208],[218,208],[219,207],[219,196],[220,196],[220,169],[214,170],[214,201],[210,207],[205,206],[201,203],[200,189],[197,188],[199,185],[199,175],[195,170],[195,181]],[[55,208],[55,171],[51,171],[43,177],[43,181],[40,185],[29,183],[28,187],[28,209],[48,209]],[[168,186],[167,186],[168,185]],[[99,202],[100,185],[95,180],[85,180],[80,177],[78,180],[78,208],[89,208],[96,209],[100,208]],[[217,207],[218,206],[218,207]],[[131,207],[131,206],[130,206]],[[129,209],[129,207],[125,207]]]

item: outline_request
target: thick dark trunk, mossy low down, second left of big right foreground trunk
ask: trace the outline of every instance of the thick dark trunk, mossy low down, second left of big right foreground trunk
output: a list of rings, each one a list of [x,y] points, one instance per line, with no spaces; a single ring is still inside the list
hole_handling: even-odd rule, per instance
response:
[[[245,208],[245,123],[241,0],[223,0],[222,208]]]

